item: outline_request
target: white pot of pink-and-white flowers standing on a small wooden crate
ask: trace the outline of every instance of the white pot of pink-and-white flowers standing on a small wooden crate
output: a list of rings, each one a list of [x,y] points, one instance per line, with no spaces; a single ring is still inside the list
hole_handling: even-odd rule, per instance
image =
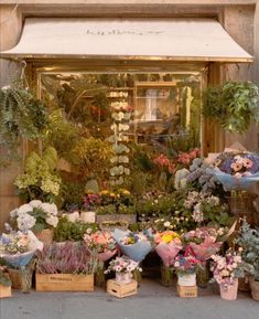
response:
[[[110,272],[115,272],[116,283],[129,284],[132,280],[132,272],[134,270],[142,272],[142,269],[139,267],[139,263],[130,259],[127,256],[121,256],[112,259],[105,273],[108,274]]]

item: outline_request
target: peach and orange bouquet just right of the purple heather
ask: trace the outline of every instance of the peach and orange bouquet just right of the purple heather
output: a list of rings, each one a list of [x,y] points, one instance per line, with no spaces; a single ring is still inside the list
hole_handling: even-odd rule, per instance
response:
[[[86,246],[100,262],[111,258],[117,252],[116,241],[110,232],[95,232],[85,234],[84,241]]]

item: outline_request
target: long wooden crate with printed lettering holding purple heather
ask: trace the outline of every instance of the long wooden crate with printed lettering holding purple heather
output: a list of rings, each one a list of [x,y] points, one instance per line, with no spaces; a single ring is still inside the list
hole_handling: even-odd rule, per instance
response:
[[[36,291],[94,291],[94,274],[36,274]]]

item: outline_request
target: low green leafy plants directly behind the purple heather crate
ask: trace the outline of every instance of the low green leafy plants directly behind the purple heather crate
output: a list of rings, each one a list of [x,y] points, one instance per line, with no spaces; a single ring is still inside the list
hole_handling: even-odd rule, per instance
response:
[[[69,222],[67,217],[61,217],[57,226],[54,228],[54,241],[56,242],[78,242],[84,240],[87,232],[96,232],[97,224],[88,224],[83,222]]]

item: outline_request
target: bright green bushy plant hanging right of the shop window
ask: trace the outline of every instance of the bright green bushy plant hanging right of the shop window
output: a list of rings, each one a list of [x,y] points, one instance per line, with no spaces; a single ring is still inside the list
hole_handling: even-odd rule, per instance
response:
[[[227,82],[204,93],[203,114],[227,131],[244,134],[259,121],[259,92],[251,82]]]

